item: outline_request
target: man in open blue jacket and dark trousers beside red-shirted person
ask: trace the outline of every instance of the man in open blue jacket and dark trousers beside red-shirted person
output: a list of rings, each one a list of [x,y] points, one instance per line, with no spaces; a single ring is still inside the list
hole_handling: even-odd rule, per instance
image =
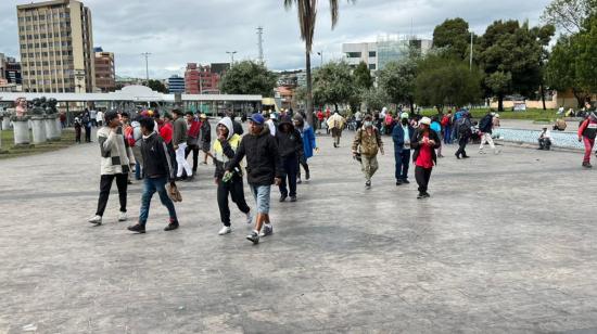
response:
[[[408,182],[408,165],[410,164],[410,138],[415,128],[408,123],[408,114],[402,113],[401,124],[394,127],[392,139],[394,140],[394,158],[396,159],[396,185]]]

